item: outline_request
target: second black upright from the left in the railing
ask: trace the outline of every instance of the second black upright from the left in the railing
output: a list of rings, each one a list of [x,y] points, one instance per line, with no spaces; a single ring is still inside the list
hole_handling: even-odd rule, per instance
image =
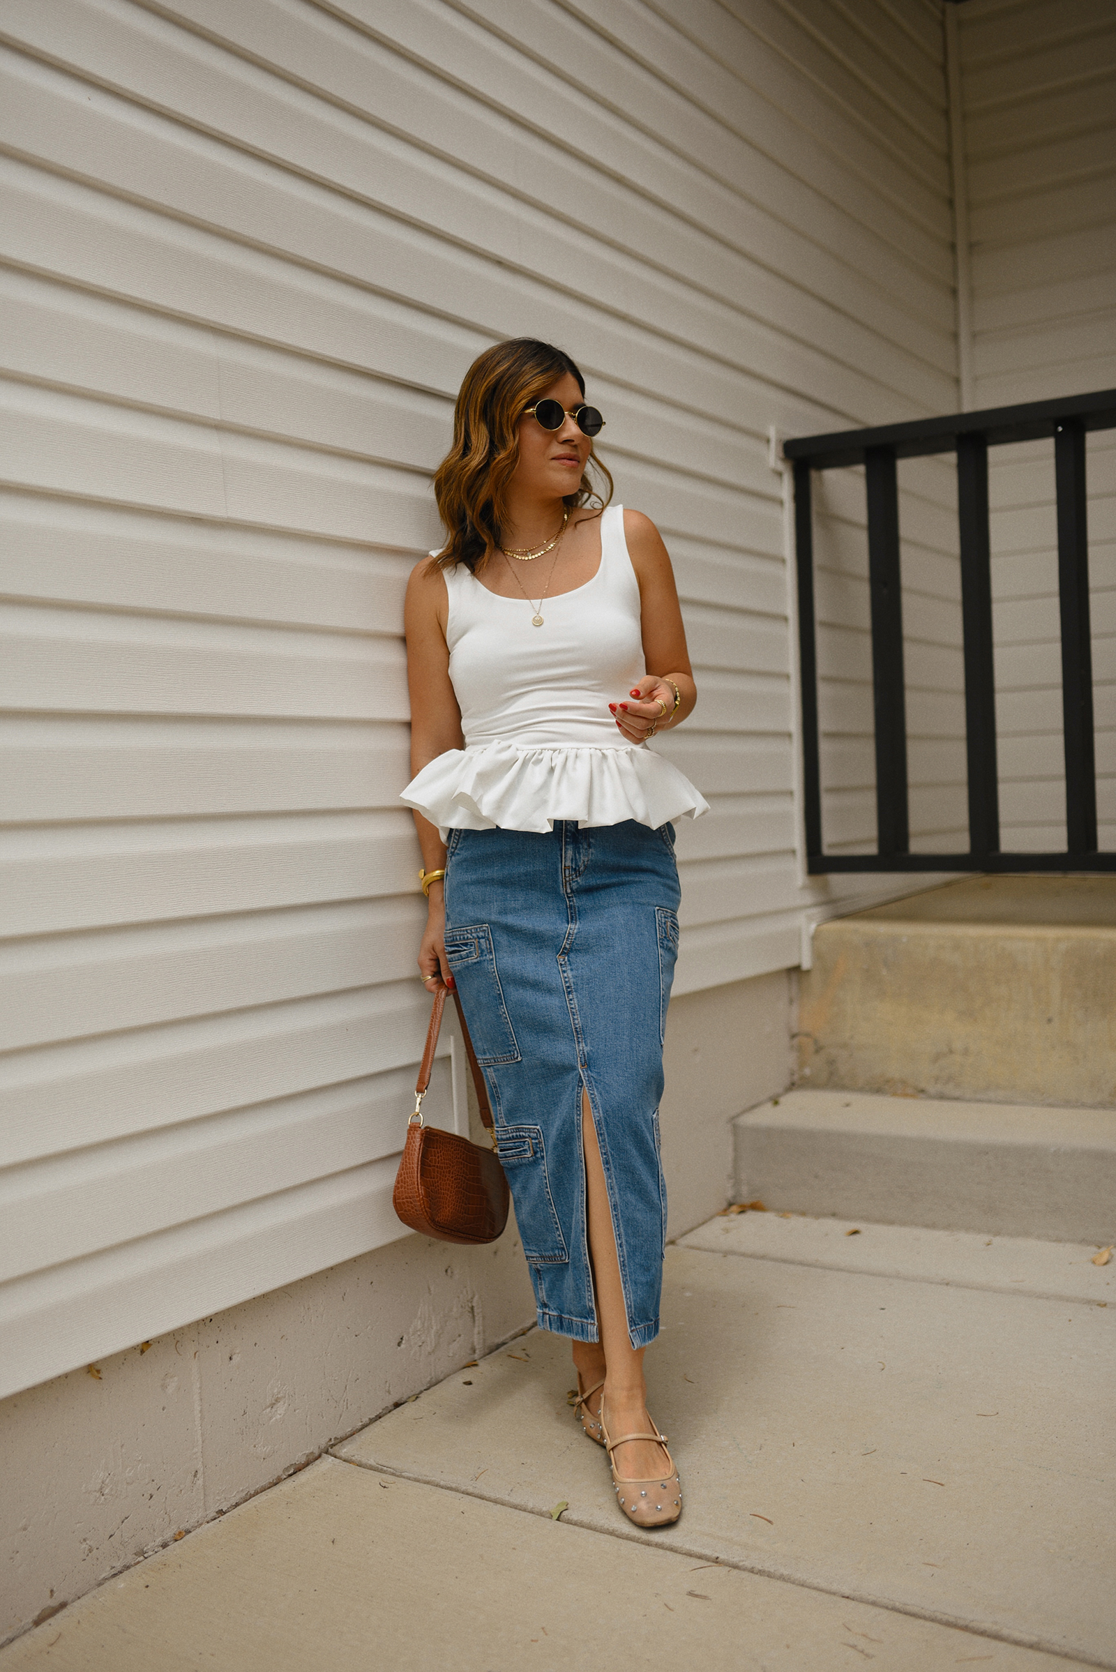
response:
[[[875,709],[875,829],[880,856],[904,854],[907,823],[907,706],[902,670],[899,573],[899,480],[890,446],[864,455],[869,505],[872,599],[872,691]]]

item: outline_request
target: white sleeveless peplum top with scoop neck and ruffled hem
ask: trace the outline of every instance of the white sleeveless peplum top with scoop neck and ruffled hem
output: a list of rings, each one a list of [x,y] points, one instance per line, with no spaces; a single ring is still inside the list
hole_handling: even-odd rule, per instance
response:
[[[657,829],[708,811],[670,761],[621,737],[608,712],[645,669],[623,507],[600,522],[600,568],[583,587],[546,599],[541,627],[531,625],[526,599],[498,597],[464,563],[446,570],[449,679],[464,749],[439,754],[401,796],[443,841],[451,829],[548,831],[555,819],[635,819]],[[533,565],[521,567],[530,589]]]

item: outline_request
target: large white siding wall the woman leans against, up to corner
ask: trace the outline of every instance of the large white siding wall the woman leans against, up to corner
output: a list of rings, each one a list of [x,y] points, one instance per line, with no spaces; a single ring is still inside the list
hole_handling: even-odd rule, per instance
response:
[[[859,898],[799,876],[769,428],[957,395],[931,0],[8,0],[5,37],[12,1391],[401,1232],[428,1010],[401,599],[474,354],[575,354],[675,558],[702,697],[662,747],[712,803],[678,991],[797,963],[804,910]],[[912,726],[947,711],[912,746],[922,836],[947,498],[904,478]],[[827,510],[862,547],[852,485]],[[825,654],[864,642],[842,563]],[[446,1057],[443,1120],[456,1082]]]

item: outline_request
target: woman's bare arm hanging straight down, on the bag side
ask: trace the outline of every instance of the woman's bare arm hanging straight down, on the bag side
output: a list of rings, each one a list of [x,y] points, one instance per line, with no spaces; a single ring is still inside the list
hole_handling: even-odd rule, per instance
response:
[[[449,595],[441,570],[431,570],[423,558],[411,570],[403,620],[408,639],[408,689],[411,692],[411,776],[421,772],[429,761],[446,749],[464,747],[461,736],[461,709],[449,682],[449,649],[446,645],[446,620]],[[438,826],[414,814],[423,868],[441,871],[446,864],[446,844]],[[418,965],[423,980],[446,980],[446,900],[441,881],[431,883],[428,895],[426,930],[419,945]]]

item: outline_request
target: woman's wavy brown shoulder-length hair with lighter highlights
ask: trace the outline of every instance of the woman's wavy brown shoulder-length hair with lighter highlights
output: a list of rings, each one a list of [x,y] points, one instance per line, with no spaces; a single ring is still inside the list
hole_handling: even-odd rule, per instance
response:
[[[523,410],[566,373],[585,398],[585,378],[570,356],[531,336],[515,336],[486,348],[466,371],[453,410],[453,446],[434,473],[434,498],[448,535],[434,558],[439,568],[464,563],[476,570],[484,553],[500,545],[500,525],[508,515],[508,483],[520,463]],[[590,482],[588,470],[603,478],[603,493]],[[608,470],[590,451],[578,490],[566,493],[563,505],[576,510],[596,500],[603,510],[611,490]]]

